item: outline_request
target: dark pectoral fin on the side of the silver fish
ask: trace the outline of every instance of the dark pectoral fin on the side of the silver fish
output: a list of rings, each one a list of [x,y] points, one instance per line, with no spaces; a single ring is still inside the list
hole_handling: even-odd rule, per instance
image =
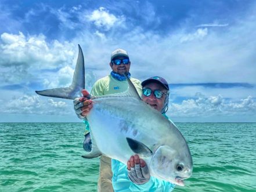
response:
[[[135,154],[143,155],[144,157],[150,157],[152,155],[152,151],[149,147],[145,146],[145,144],[129,137],[127,137],[126,139],[129,147],[132,151],[134,151]]]

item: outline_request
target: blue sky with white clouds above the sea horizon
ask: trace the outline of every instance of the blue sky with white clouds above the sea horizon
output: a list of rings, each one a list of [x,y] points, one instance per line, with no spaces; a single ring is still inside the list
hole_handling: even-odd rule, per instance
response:
[[[0,1],[0,122],[81,122],[73,101],[35,90],[85,88],[127,50],[131,77],[170,84],[174,122],[256,122],[256,1]]]

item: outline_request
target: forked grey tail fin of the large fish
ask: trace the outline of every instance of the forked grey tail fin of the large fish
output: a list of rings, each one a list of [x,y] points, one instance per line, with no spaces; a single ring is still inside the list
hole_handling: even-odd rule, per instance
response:
[[[81,46],[78,45],[79,53],[77,64],[73,75],[72,84],[66,88],[55,88],[46,90],[36,90],[38,95],[47,97],[59,97],[63,99],[75,99],[80,97],[81,90],[85,88],[85,68],[84,68],[84,55],[82,54]]]

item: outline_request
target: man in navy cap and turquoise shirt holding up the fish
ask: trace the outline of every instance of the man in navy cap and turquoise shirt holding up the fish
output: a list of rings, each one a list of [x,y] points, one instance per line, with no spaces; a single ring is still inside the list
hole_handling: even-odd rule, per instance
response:
[[[155,76],[146,79],[142,82],[142,100],[160,111],[165,118],[168,118],[165,113],[168,110],[169,86],[164,78]],[[86,97],[89,93],[84,92]],[[80,99],[81,100],[81,99]],[[87,100],[89,101],[89,100]],[[85,101],[77,115],[87,115],[92,108],[92,104],[87,104]],[[77,106],[79,104],[74,103]],[[77,108],[77,107],[75,107]],[[170,120],[170,119],[169,119]],[[171,121],[171,120],[170,120]],[[86,145],[86,142],[85,142]],[[88,146],[90,146],[87,143]],[[145,161],[139,158],[138,155],[133,155],[127,162],[127,165],[117,160],[111,162],[113,178],[112,184],[114,191],[171,191],[175,184],[164,180],[156,179],[150,176],[149,170]],[[107,191],[107,190],[104,190]]]

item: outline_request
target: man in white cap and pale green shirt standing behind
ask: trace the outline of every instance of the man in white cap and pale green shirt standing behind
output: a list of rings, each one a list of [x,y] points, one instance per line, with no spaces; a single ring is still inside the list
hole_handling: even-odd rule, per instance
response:
[[[124,92],[128,89],[127,79],[125,75],[127,75],[127,77],[132,81],[139,95],[142,95],[142,86],[140,81],[138,79],[131,78],[131,74],[129,73],[131,61],[129,60],[127,51],[123,49],[114,50],[114,52],[111,53],[109,65],[112,69],[110,75],[107,75],[106,77],[103,77],[95,82],[92,87],[91,95],[100,96]],[[74,100],[74,104],[80,102],[82,102],[82,100]],[[91,102],[91,100],[86,100],[85,102],[88,102],[86,104],[87,107],[90,108],[92,104],[89,102]],[[84,111],[84,114],[79,114],[78,117],[84,119],[85,114],[86,111]],[[91,142],[91,137],[89,136],[89,125],[86,121],[85,124],[86,132],[84,149],[86,151],[91,151],[90,145],[88,145],[88,143]],[[114,191],[111,183],[112,176],[113,174],[111,172],[111,158],[102,155],[100,157],[98,191]]]

